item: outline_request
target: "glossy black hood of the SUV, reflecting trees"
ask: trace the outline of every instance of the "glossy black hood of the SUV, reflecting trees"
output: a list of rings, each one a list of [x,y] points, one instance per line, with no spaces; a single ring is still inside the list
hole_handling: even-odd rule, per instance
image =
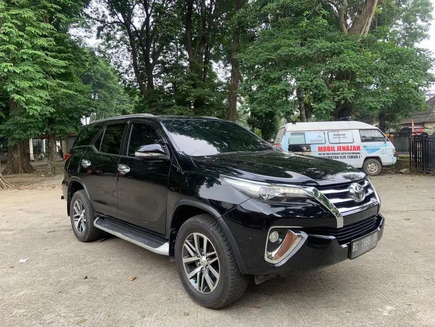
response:
[[[343,162],[280,151],[191,157],[198,168],[263,182],[328,185],[365,178]]]

